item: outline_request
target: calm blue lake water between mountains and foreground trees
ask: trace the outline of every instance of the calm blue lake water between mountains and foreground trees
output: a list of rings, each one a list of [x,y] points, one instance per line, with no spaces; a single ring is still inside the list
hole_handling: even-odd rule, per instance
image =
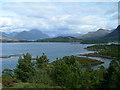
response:
[[[0,44],[0,47],[2,47],[0,51],[2,51],[2,56],[25,54],[28,52],[33,57],[36,57],[45,53],[50,61],[54,61],[56,58],[61,58],[63,56],[90,53],[91,51],[87,51],[84,48],[91,45],[92,44],[75,43],[2,43],[2,45]],[[100,60],[104,61],[104,59]],[[17,61],[18,57],[0,59],[0,64],[2,62],[2,70],[5,68],[15,68]],[[105,61],[107,61],[107,64],[104,64],[104,66],[107,67],[110,60],[106,59]]]

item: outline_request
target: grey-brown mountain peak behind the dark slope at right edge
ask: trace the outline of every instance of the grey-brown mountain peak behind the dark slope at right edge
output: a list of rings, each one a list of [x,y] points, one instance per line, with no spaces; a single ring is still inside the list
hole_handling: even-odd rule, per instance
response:
[[[95,32],[88,32],[87,34],[85,34],[79,38],[83,39],[83,40],[100,39],[109,33],[111,33],[110,30],[99,29]]]

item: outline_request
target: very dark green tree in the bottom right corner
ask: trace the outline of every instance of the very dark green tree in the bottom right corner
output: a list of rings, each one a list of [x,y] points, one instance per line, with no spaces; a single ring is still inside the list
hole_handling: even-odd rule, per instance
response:
[[[107,73],[104,75],[102,87],[119,88],[120,86],[120,60],[112,60]]]

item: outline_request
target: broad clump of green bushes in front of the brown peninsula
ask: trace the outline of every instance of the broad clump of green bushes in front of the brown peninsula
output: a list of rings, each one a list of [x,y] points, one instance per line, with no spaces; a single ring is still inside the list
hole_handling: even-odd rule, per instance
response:
[[[56,85],[67,88],[93,88],[99,83],[99,76],[88,68],[81,69],[81,64],[75,56],[65,56],[54,63],[52,73]]]

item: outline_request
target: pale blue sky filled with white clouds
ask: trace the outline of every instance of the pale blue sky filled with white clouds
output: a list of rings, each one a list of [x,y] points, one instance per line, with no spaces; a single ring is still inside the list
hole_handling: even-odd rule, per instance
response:
[[[31,29],[55,36],[85,34],[118,26],[118,2],[0,1],[0,31]]]

